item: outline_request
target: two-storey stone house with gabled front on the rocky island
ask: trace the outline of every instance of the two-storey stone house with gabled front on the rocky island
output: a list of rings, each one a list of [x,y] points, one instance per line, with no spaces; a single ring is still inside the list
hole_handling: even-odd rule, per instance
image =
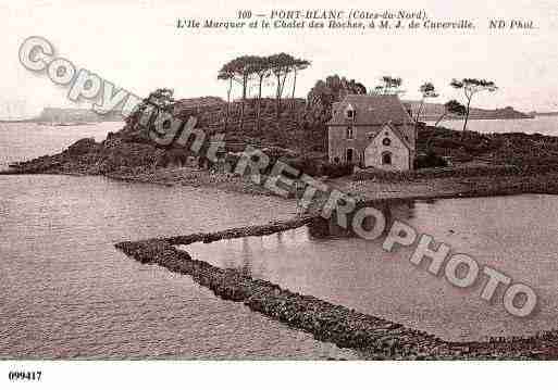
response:
[[[330,162],[412,169],[414,123],[397,96],[348,95],[333,104],[332,114],[327,123]]]

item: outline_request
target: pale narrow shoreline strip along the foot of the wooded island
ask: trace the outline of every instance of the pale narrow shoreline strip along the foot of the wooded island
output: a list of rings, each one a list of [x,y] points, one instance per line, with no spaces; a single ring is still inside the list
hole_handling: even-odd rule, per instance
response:
[[[108,179],[152,184],[165,187],[185,186],[194,188],[212,188],[232,193],[276,197],[287,201],[293,198],[280,197],[261,185],[250,181],[248,177],[210,174],[204,169],[193,168],[159,168],[141,173],[91,173],[83,169],[28,172],[10,168],[0,172],[1,176],[10,175],[66,175],[66,176],[102,176]],[[373,201],[426,201],[452,198],[485,198],[514,196],[522,193],[558,194],[558,173],[514,174],[495,176],[464,176],[443,178],[420,178],[410,180],[338,180],[324,181],[331,188],[354,196],[364,202]],[[325,199],[317,198],[315,203]]]

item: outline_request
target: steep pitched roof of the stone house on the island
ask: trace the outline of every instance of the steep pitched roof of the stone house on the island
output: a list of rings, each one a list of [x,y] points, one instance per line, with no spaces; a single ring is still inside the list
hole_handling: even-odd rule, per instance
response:
[[[356,125],[397,125],[412,124],[409,113],[397,95],[347,95],[345,99],[333,104],[333,115],[328,125],[346,125],[351,119],[345,117],[345,108],[350,104],[357,112]]]

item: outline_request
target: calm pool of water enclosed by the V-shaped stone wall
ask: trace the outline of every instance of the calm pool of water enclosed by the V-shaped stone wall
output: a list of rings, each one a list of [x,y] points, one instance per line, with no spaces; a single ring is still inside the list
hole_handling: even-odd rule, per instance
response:
[[[481,265],[532,286],[541,311],[526,319],[512,317],[503,309],[504,291],[497,290],[493,304],[480,299],[484,277],[473,288],[458,289],[427,273],[427,262],[411,264],[410,248],[387,253],[382,237],[367,241],[324,222],[281,235],[185,249],[212,264],[445,339],[480,340],[558,328],[558,197],[398,202],[387,215],[433,236],[436,243],[447,243],[454,253],[468,253]]]

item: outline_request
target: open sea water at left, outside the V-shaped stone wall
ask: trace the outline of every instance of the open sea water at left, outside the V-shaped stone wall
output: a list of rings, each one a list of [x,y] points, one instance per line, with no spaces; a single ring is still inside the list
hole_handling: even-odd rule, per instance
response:
[[[1,127],[0,169],[84,137],[100,141],[122,124]],[[0,358],[355,357],[114,248],[261,224],[292,210],[280,199],[207,188],[0,176]]]

